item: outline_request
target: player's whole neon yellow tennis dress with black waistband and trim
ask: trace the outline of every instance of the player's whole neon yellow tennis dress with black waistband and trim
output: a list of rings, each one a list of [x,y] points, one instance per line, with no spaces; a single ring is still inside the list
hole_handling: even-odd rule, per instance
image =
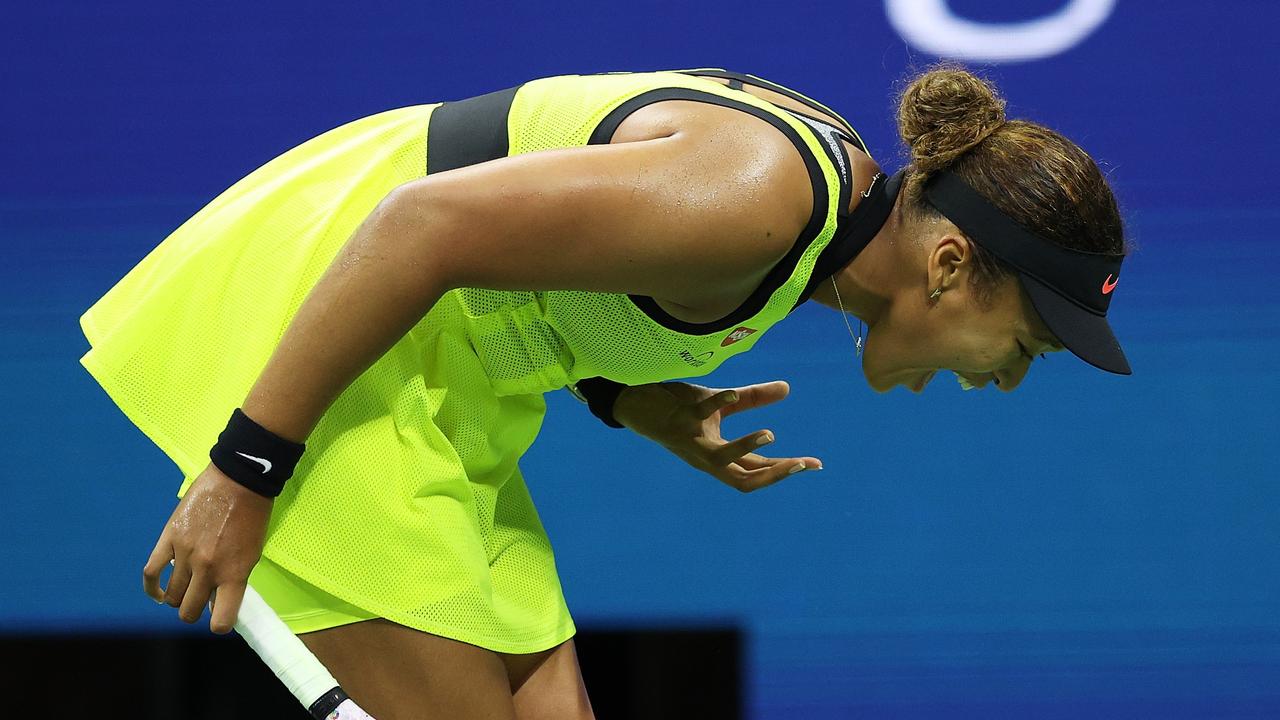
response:
[[[541,425],[543,393],[589,377],[640,384],[714,370],[887,217],[883,202],[844,211],[850,163],[833,137],[861,146],[847,123],[783,110],[742,91],[744,81],[831,113],[762,78],[700,68],[549,77],[332,129],[233,184],[129,270],[81,318],[92,346],[81,363],[177,462],[182,496],[303,299],[393,187],[605,143],[631,110],[659,100],[714,102],[774,124],[805,158],[814,211],[741,307],[686,323],[625,293],[449,291],[329,407],[275,500],[251,583],[294,632],[380,616],[497,652],[553,647],[575,628],[518,466]]]

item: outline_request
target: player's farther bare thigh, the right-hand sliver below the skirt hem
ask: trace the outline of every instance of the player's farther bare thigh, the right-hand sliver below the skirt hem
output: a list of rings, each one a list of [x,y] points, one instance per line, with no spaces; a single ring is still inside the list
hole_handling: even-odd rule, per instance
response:
[[[518,720],[595,720],[572,639],[532,655],[498,655]]]

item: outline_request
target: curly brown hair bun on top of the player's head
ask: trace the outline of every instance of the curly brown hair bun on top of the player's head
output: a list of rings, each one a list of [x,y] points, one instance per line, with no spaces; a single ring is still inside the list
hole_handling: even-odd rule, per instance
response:
[[[916,77],[897,106],[897,132],[918,173],[941,170],[1005,124],[1005,101],[969,70],[943,65]]]

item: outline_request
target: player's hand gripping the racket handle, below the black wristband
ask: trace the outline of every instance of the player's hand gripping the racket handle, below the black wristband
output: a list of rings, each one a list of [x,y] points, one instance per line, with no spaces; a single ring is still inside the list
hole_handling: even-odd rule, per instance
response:
[[[210,462],[165,523],[142,569],[143,592],[178,607],[184,623],[195,623],[214,591],[220,591],[221,602],[210,610],[209,629],[230,632],[248,574],[262,555],[271,505],[271,498],[232,480]],[[160,571],[170,562],[169,585],[161,591]]]

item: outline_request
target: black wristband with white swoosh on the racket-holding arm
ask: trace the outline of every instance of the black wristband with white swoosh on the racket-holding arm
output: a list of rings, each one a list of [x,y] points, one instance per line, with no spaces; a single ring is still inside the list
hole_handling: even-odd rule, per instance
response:
[[[306,448],[306,443],[282,438],[237,407],[209,459],[237,483],[261,496],[276,497]]]

